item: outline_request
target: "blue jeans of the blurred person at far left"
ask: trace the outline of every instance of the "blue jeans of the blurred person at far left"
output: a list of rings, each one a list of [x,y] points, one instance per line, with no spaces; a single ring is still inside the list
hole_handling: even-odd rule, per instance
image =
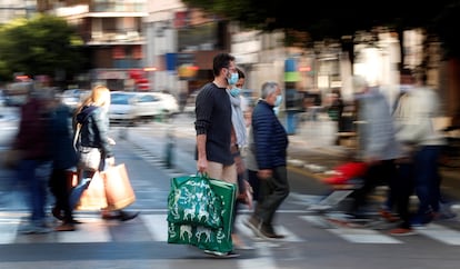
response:
[[[51,169],[51,161],[21,160],[19,163],[19,179],[27,185],[29,190],[30,220],[36,225],[43,225],[46,220],[44,208]]]

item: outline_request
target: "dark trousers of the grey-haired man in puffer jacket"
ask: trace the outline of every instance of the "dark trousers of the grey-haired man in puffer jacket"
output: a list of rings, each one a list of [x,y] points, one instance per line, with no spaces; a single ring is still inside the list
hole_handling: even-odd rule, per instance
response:
[[[254,216],[266,226],[271,226],[282,201],[289,196],[288,172],[286,167],[277,167],[269,179],[259,179],[259,198]]]

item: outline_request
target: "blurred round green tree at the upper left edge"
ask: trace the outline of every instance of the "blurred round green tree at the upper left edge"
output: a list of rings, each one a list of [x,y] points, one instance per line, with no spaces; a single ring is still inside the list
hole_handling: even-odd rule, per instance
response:
[[[59,17],[11,21],[0,28],[1,80],[12,80],[14,72],[72,76],[84,62],[81,44],[77,31]]]

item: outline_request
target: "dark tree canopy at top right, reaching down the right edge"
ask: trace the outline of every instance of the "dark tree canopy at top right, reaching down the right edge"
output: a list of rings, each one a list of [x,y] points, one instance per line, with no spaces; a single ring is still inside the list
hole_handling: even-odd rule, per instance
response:
[[[218,14],[218,18],[238,21],[242,26],[264,31],[282,29],[286,41],[310,48],[316,41],[339,41],[353,62],[357,33],[384,28],[398,33],[401,60],[406,59],[402,33],[423,29],[426,42],[420,70],[427,72],[429,42],[440,41],[449,64],[449,97],[458,100],[460,92],[460,1],[387,0],[387,1],[286,1],[286,0],[182,0],[190,8]],[[302,32],[304,34],[296,34]],[[299,42],[300,38],[300,42]],[[370,39],[372,42],[374,39]],[[401,62],[400,68],[404,66]],[[459,111],[454,103],[451,111]]]

